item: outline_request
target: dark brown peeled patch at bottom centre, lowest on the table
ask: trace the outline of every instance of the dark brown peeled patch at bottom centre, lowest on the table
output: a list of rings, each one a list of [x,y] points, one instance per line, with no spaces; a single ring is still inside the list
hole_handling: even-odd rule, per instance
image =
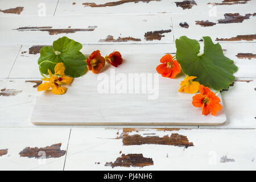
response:
[[[144,167],[144,166],[152,166],[154,162],[152,158],[144,158],[142,154],[122,154],[121,157],[117,158],[115,162],[107,162],[105,166],[114,167]]]

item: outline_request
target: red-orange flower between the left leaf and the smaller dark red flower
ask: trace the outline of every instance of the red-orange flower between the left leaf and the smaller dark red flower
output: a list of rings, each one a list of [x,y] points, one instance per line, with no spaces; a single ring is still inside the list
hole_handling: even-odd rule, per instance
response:
[[[101,56],[99,50],[93,51],[89,58],[86,60],[89,70],[93,73],[100,73],[101,69],[105,66],[105,59]]]

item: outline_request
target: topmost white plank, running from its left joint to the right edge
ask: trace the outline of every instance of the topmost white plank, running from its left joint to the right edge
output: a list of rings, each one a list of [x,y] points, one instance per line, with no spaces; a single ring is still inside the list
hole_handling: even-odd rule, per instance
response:
[[[60,0],[55,15],[159,14],[159,13],[237,13],[255,11],[253,0]]]

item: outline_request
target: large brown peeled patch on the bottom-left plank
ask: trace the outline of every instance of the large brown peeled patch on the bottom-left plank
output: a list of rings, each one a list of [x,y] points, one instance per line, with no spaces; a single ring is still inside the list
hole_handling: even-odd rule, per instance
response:
[[[48,158],[60,158],[61,156],[66,154],[65,150],[60,150],[61,143],[52,144],[51,146],[47,147],[26,147],[21,152],[19,152],[19,155],[21,157],[27,157],[27,158],[35,158],[39,159],[40,156],[42,156],[42,152],[45,153],[46,159]]]

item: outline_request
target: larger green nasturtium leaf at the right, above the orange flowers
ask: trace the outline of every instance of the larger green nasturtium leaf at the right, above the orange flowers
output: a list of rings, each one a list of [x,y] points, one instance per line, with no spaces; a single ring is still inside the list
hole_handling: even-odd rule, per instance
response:
[[[233,60],[225,57],[219,43],[214,44],[209,36],[204,36],[204,53],[200,44],[187,36],[175,40],[176,59],[182,71],[189,76],[196,76],[196,81],[215,90],[227,89],[234,81],[233,73],[237,66]]]

